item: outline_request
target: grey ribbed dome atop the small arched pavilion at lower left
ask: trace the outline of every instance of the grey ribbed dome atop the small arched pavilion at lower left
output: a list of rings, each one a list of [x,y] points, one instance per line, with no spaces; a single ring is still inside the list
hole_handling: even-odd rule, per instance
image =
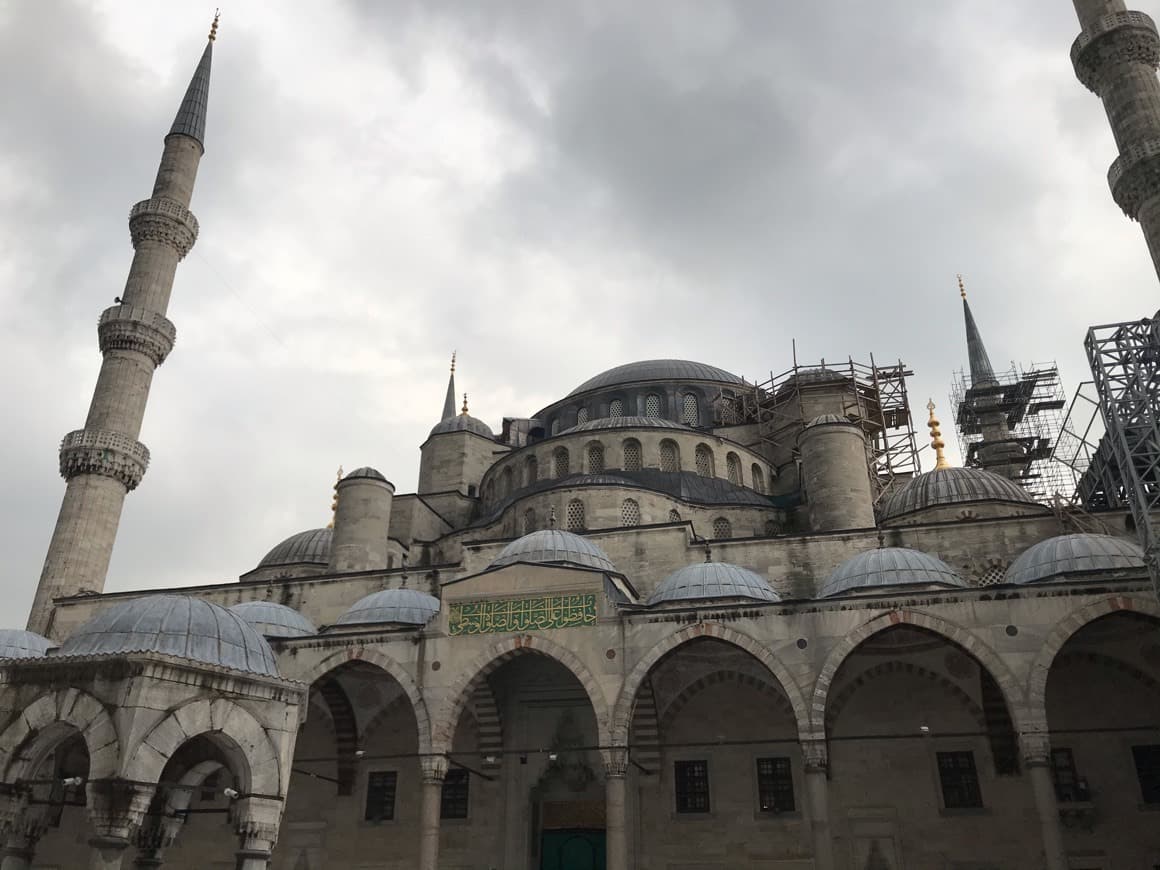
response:
[[[114,604],[73,632],[59,655],[155,652],[277,676],[266,638],[238,614],[191,595],[148,595]]]

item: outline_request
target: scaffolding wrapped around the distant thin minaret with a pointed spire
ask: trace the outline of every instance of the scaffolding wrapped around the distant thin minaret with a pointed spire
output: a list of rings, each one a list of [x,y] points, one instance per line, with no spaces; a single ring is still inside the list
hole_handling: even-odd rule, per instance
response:
[[[1021,449],[1015,481],[1045,505],[1054,503],[1057,496],[1072,496],[1075,474],[1052,456],[1067,406],[1054,362],[1032,363],[1030,369],[1012,365],[1008,371],[995,372],[993,382],[978,385],[959,370],[951,380],[950,400],[956,409],[955,429],[964,465],[985,466],[979,455],[984,444],[983,415],[1000,412],[1007,418],[1008,441]],[[1003,463],[1009,466],[1009,454]]]

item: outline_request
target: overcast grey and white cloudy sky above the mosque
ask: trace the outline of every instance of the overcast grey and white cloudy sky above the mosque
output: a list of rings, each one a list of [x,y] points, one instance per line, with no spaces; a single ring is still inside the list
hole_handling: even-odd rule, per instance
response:
[[[0,0],[7,624],[212,12]],[[412,490],[455,348],[496,427],[631,360],[764,378],[792,340],[945,405],[962,271],[996,368],[1074,389],[1086,327],[1158,299],[1076,30],[1066,0],[229,3],[108,588],[237,578],[327,521],[340,464]]]

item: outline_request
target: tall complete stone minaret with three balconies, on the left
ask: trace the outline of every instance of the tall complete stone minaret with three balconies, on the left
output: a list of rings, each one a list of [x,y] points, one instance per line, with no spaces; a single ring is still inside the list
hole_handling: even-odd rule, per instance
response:
[[[137,437],[153,371],[176,339],[165,316],[173,276],[197,240],[189,200],[204,152],[217,27],[215,17],[205,51],[165,137],[153,195],[129,212],[133,244],[129,280],[116,304],[97,321],[104,358],[85,428],[68,433],[60,443],[60,474],[68,483],[28,618],[30,631],[49,632],[53,599],[104,588],[125,494],[137,487],[148,465],[148,450]]]

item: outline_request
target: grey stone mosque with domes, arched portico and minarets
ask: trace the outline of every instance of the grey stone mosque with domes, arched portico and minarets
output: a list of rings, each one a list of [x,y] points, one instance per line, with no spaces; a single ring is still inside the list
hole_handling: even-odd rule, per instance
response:
[[[1160,41],[1075,5],[1124,148],[1160,130]],[[1000,411],[988,470],[948,465],[931,407],[937,466],[883,479],[840,368],[797,370],[770,437],[730,408],[776,397],[682,360],[496,433],[452,363],[416,492],[360,467],[238,582],[103,594],[213,32],[130,215],[28,629],[0,633],[2,870],[1160,867],[1160,604],[1126,514],[1034,501]]]

